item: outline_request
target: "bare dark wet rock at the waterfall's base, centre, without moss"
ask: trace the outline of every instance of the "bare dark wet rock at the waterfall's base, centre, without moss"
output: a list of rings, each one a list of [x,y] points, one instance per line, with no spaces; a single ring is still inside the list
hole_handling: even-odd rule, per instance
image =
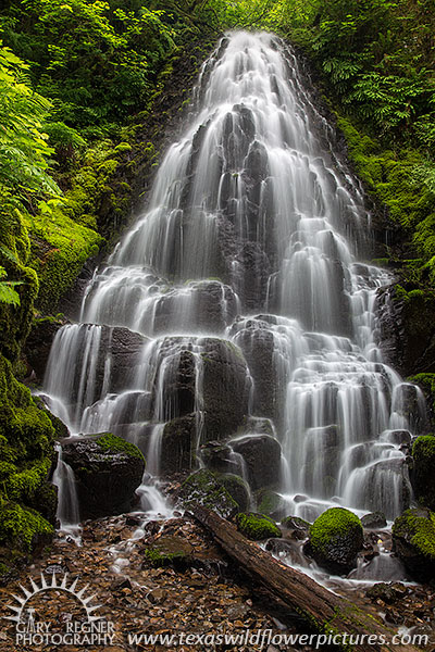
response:
[[[281,444],[276,439],[269,435],[247,435],[229,443],[245,460],[252,490],[278,484]]]

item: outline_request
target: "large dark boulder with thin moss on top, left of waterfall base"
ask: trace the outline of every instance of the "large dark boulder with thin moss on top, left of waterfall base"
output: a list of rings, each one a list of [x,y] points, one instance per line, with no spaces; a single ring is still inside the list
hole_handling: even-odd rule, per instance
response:
[[[70,438],[62,450],[64,462],[75,475],[83,519],[130,510],[145,471],[144,456],[136,446],[102,432]]]

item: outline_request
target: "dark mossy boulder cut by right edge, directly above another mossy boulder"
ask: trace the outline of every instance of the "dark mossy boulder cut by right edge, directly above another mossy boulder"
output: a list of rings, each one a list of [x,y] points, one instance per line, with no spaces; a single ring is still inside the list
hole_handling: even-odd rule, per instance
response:
[[[418,437],[412,447],[413,488],[419,502],[435,511],[435,436]]]

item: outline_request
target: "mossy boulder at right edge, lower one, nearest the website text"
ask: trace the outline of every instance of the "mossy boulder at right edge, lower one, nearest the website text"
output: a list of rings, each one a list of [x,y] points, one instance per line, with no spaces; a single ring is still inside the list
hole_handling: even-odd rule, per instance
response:
[[[425,509],[407,510],[394,522],[393,546],[417,580],[435,577],[435,513]]]

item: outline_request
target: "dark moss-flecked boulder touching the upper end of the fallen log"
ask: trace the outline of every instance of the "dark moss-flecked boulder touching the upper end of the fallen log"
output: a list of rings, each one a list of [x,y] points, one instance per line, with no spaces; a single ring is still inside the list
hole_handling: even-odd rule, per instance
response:
[[[186,478],[179,488],[178,499],[186,510],[199,503],[213,510],[222,518],[231,518],[239,511],[237,502],[224,485],[207,468],[200,468]]]

